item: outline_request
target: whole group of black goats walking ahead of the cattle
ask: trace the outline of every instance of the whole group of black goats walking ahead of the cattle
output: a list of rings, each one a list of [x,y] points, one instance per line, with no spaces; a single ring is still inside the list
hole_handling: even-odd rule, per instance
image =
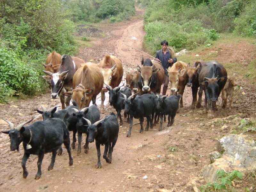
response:
[[[109,90],[110,105],[116,108],[116,111],[124,109],[124,115],[128,115],[128,118],[130,118],[130,130],[127,137],[130,137],[131,135],[133,117],[140,118],[140,133],[143,132],[143,117],[147,118],[145,131],[148,131],[149,122],[150,128],[153,128],[153,117],[155,117],[154,125],[157,123],[156,120],[159,121],[159,116],[161,117],[159,131],[162,130],[164,115],[168,115],[168,126],[173,124],[181,95],[167,97],[165,95],[155,95],[152,92],[152,94],[148,93],[136,96],[138,92],[132,95],[130,88],[120,88],[121,86],[112,89],[108,86],[107,89]],[[123,95],[123,97],[121,95]],[[58,111],[57,107],[52,107],[46,110],[46,108],[41,106],[43,111],[37,110],[37,112],[42,114],[43,121],[36,121],[28,126],[24,125],[31,122],[34,118],[15,128],[14,124],[4,119],[11,128],[9,131],[3,131],[3,133],[7,133],[10,136],[11,150],[19,150],[19,145],[23,142],[24,155],[21,161],[23,178],[27,178],[28,176],[26,161],[30,154],[38,155],[38,171],[35,179],[41,177],[42,160],[44,154],[48,152],[52,152],[51,164],[48,167],[48,170],[52,170],[56,155],[61,155],[62,153],[62,143],[64,143],[68,151],[69,165],[73,165],[69,131],[73,132],[72,148],[75,148],[76,132],[78,133],[78,154],[81,153],[82,133],[86,133],[84,152],[86,154],[88,153],[89,142],[93,142],[95,139],[98,154],[98,163],[96,167],[101,167],[100,144],[105,145],[103,158],[107,163],[112,163],[112,152],[119,132],[117,115],[111,113],[103,119],[100,119],[100,110],[96,105],[78,110],[74,100],[72,101],[72,104],[73,105],[66,107],[66,109]],[[157,117],[158,119],[156,119]]]

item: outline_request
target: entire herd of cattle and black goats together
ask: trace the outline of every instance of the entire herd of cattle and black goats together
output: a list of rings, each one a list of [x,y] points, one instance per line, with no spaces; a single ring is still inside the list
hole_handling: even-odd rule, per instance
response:
[[[69,155],[69,165],[73,164],[70,150],[69,131],[73,132],[71,147],[75,148],[76,132],[78,134],[77,154],[81,153],[82,134],[86,134],[84,152],[89,150],[89,142],[95,140],[98,152],[97,168],[100,163],[100,144],[105,145],[103,158],[107,163],[112,162],[112,152],[116,144],[119,125],[123,124],[121,110],[124,109],[124,117],[130,122],[127,137],[131,136],[133,117],[140,119],[140,133],[143,133],[143,120],[147,118],[148,128],[153,128],[159,121],[159,131],[162,130],[163,118],[168,115],[168,124],[174,122],[179,108],[183,107],[182,95],[185,86],[192,88],[192,109],[201,107],[202,93],[205,93],[205,108],[208,116],[213,116],[216,109],[216,101],[222,91],[222,107],[226,108],[227,96],[229,95],[229,110],[231,108],[236,77],[227,78],[227,71],[222,64],[216,61],[196,61],[191,67],[182,61],[178,61],[168,68],[171,95],[159,95],[161,85],[164,81],[164,69],[161,63],[155,60],[142,60],[137,70],[126,73],[126,86],[119,86],[123,78],[123,66],[120,59],[107,55],[99,64],[84,62],[83,60],[61,56],[56,52],[47,55],[43,63],[46,76],[44,79],[50,84],[51,98],[60,98],[62,109],[57,107],[46,109],[43,106],[43,121],[36,121],[28,126],[25,124],[33,119],[22,123],[16,128],[5,120],[11,130],[4,133],[9,134],[11,139],[11,150],[19,150],[23,141],[24,156],[22,158],[23,178],[27,178],[26,161],[30,154],[38,155],[38,172],[36,179],[41,177],[41,164],[44,154],[52,152],[52,161],[48,170],[53,169],[55,157],[62,153],[61,145],[64,143]],[[226,83],[227,82],[227,83]],[[105,84],[106,86],[103,86]],[[199,92],[198,92],[198,88]],[[116,109],[117,114],[111,113],[100,119],[100,110],[104,109],[105,92],[109,92],[109,103]],[[132,94],[133,91],[133,94]],[[100,109],[96,106],[96,96],[101,92]],[[198,92],[198,100],[197,100]],[[159,93],[159,94],[158,94]],[[65,96],[67,96],[65,100]],[[72,104],[69,105],[71,98]],[[92,104],[89,104],[92,100]],[[118,124],[118,118],[120,123]],[[153,123],[154,119],[154,123]]]

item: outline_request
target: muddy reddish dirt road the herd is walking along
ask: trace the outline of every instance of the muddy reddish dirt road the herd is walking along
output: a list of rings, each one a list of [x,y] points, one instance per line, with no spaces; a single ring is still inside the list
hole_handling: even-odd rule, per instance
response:
[[[94,38],[93,46],[81,49],[78,56],[86,61],[97,62],[106,54],[116,55],[123,61],[125,77],[126,72],[136,69],[137,64],[140,64],[141,56],[148,58],[143,53],[124,45],[142,49],[145,32],[143,19],[138,17],[142,14],[143,10],[138,9],[137,15],[130,21],[103,25],[100,28],[106,36]],[[243,82],[238,79],[238,83]],[[255,88],[251,89],[255,90]],[[10,151],[9,136],[1,133],[0,191],[153,192],[158,189],[193,191],[194,186],[199,188],[204,184],[204,180],[198,175],[204,165],[209,164],[209,153],[214,151],[216,140],[228,134],[228,130],[221,129],[223,123],[220,118],[241,113],[250,106],[234,104],[234,111],[229,113],[228,110],[220,109],[217,119],[209,120],[202,114],[202,108],[190,109],[191,95],[190,88],[186,87],[184,108],[180,108],[180,113],[176,115],[172,127],[166,127],[164,123],[165,128],[162,132],[158,132],[159,124],[157,124],[153,129],[141,134],[139,125],[136,125],[133,126],[132,135],[128,138],[126,134],[129,125],[125,122],[120,127],[113,152],[113,163],[106,163],[101,156],[100,169],[95,168],[97,151],[95,144],[90,143],[89,154],[85,154],[82,150],[82,153],[77,155],[77,148],[72,149],[73,166],[68,166],[68,154],[64,149],[63,155],[56,157],[54,169],[47,171],[51,154],[46,154],[42,164],[42,177],[39,180],[34,180],[37,172],[37,156],[30,156],[27,161],[29,175],[27,179],[23,179],[20,165],[23,155],[22,145],[20,152]],[[41,115],[36,112],[39,104],[50,108],[60,105],[60,101],[51,100],[50,94],[47,93],[29,100],[0,104],[0,116],[13,122],[14,125],[30,119],[31,116],[35,116],[35,120],[42,120]],[[106,106],[106,112],[101,114],[101,118],[110,111],[115,110]],[[255,113],[255,109],[252,113]],[[236,121],[239,121],[239,118],[227,124],[230,127]],[[137,122],[138,120],[134,120],[134,123]],[[0,120],[0,124],[0,131],[9,129],[3,120]],[[83,144],[85,142],[84,135],[82,142]],[[101,154],[103,151],[104,148],[101,147]]]

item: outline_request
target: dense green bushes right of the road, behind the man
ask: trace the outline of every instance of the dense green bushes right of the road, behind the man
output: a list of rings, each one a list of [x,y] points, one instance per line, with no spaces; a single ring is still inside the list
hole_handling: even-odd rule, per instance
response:
[[[256,36],[255,1],[139,0],[138,3],[147,7],[144,45],[152,54],[161,48],[162,40],[180,51],[209,45],[223,32]]]

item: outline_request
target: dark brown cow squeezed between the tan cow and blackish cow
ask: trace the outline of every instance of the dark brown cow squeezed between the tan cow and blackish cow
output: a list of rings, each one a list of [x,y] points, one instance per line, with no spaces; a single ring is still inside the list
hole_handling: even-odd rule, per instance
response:
[[[198,87],[200,86],[198,78],[199,78],[199,74],[200,74],[202,68],[204,67],[204,63],[205,63],[205,61],[203,61],[203,60],[197,60],[191,67],[190,67],[189,63],[188,63],[188,66],[187,66],[188,67],[188,70],[187,70],[187,78],[188,78],[187,86],[191,87],[192,97],[193,97],[192,104],[191,104],[192,109],[195,109]]]

